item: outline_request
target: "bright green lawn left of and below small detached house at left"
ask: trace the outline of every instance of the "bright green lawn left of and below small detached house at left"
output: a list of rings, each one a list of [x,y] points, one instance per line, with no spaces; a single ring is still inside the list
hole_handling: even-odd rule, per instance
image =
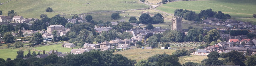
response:
[[[63,48],[61,47],[63,43],[55,44],[55,45],[49,45],[49,46],[40,46],[40,47],[35,47],[34,49],[37,50],[45,50],[45,53],[49,52],[50,50],[57,50],[58,52],[70,52],[72,48]],[[75,49],[75,48],[73,48]]]

